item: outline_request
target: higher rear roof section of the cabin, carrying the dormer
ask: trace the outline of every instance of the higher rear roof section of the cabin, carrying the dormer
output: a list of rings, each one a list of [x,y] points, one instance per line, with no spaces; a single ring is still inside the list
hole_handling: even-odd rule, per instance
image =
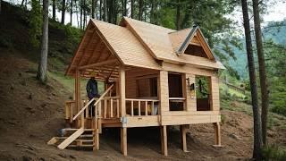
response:
[[[191,37],[188,37],[190,32],[198,34],[200,37],[198,37],[199,40],[203,43],[202,47],[212,54],[210,47],[208,47],[206,43],[206,39],[203,38],[203,35],[198,28],[193,31],[192,29],[176,31],[127,17],[122,19],[120,25],[129,29],[137,38],[139,38],[139,41],[147,48],[148,52],[158,60],[176,64],[194,64],[224,69],[223,64],[216,61],[214,56],[211,56],[211,59],[207,59],[194,55],[178,56],[176,54],[178,46],[181,47],[181,42],[178,43],[178,40],[181,41],[183,39],[182,43],[188,38],[188,41],[191,40]],[[203,63],[201,63],[201,61],[203,61]]]

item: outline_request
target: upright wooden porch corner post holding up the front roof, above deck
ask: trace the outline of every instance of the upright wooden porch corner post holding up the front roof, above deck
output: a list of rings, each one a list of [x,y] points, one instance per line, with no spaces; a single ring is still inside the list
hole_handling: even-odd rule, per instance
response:
[[[119,69],[119,90],[120,90],[120,106],[121,106],[121,116],[126,115],[126,103],[125,103],[125,69],[121,67]]]

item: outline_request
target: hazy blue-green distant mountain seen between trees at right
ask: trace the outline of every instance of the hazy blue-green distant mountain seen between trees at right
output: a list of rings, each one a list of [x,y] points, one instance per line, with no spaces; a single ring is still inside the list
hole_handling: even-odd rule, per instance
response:
[[[284,21],[275,21],[265,26],[265,28],[263,29],[263,37],[265,38],[265,40],[272,39],[274,43],[285,46],[286,45],[286,19]],[[253,38],[252,40],[255,40],[255,38]],[[248,68],[247,68],[248,58],[247,58],[244,38],[241,38],[241,43],[243,45],[242,50],[240,50],[237,47],[233,47],[233,51],[235,53],[235,56],[237,57],[237,60],[229,59],[229,64],[231,65],[233,69],[239,72],[240,77],[242,79],[247,79],[248,78]],[[253,44],[253,47],[256,47],[255,44]],[[255,54],[255,57],[257,57],[257,54]]]

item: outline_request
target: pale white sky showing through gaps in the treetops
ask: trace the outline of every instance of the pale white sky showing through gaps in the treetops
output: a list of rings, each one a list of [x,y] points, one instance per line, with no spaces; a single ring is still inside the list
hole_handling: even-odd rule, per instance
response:
[[[7,0],[8,2],[11,2],[13,4],[21,4],[21,0]],[[263,22],[262,26],[266,25],[269,21],[282,21],[283,19],[286,19],[286,0],[267,0],[270,4],[268,7],[268,12],[263,15],[263,19],[265,22]],[[49,14],[52,14],[52,6],[49,7]],[[52,16],[52,15],[50,15]],[[60,12],[56,12],[56,18],[57,20],[61,20],[62,14]],[[237,21],[239,24],[239,27],[242,27],[242,13],[241,9],[237,8],[235,12],[228,15],[227,17],[230,17],[234,21]],[[89,18],[89,17],[88,17]],[[80,16],[79,16],[80,19]],[[71,20],[71,14],[66,13],[65,14],[65,23],[70,22]],[[76,14],[72,15],[72,26],[77,26],[77,16]]]

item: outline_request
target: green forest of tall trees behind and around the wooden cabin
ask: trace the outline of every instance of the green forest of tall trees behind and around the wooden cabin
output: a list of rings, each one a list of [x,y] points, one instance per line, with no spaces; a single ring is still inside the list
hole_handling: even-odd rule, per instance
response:
[[[0,12],[7,7],[6,10],[15,12],[15,15],[21,14],[22,23],[28,26],[29,42],[11,37],[12,32],[1,32],[0,47],[22,49],[25,47],[17,47],[16,44],[29,44],[29,50],[38,53],[33,57],[38,62],[38,80],[46,83],[50,81],[51,76],[47,75],[51,73],[63,75],[63,68],[70,63],[89,19],[118,24],[126,16],[172,30],[198,25],[215,57],[226,67],[219,73],[222,104],[231,105],[229,102],[239,101],[249,106],[255,126],[252,157],[257,160],[284,160],[285,144],[278,148],[268,143],[267,130],[271,129],[273,114],[286,116],[286,72],[283,70],[286,69],[286,17],[283,21],[263,19],[265,14],[271,12],[268,9],[281,1],[8,1],[21,8],[16,13],[1,0]],[[233,13],[238,12],[242,22],[231,18]],[[0,26],[3,23],[1,21]],[[4,29],[4,26],[1,28]],[[61,30],[61,35],[53,33],[55,30]],[[51,38],[51,35],[55,37]],[[233,92],[223,82],[244,92]]]

